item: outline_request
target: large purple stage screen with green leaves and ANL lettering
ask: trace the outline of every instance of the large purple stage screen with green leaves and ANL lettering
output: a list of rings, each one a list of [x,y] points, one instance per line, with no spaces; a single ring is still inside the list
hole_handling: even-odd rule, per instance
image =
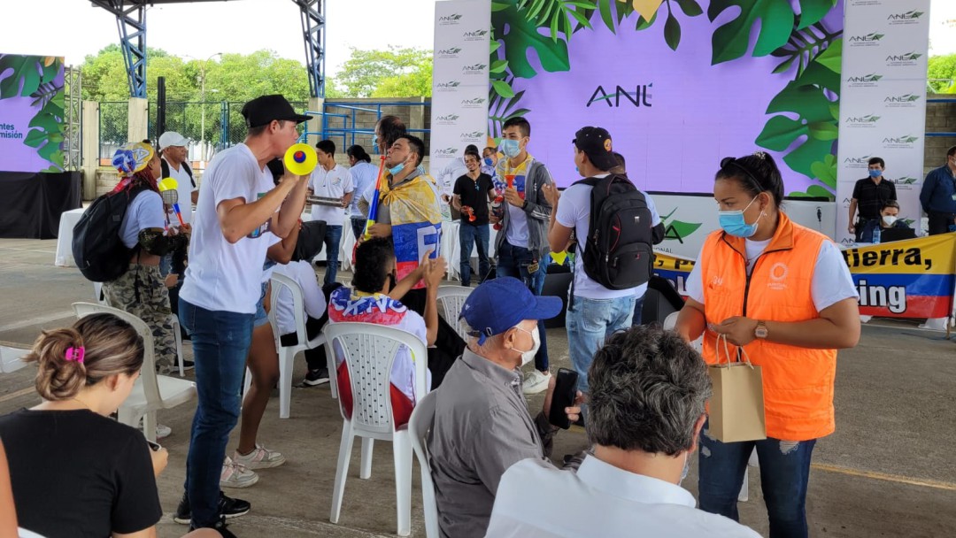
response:
[[[711,192],[723,157],[762,150],[781,165],[789,194],[833,195],[842,1],[794,0],[780,12],[665,0],[648,24],[630,2],[594,0],[579,17],[562,12],[571,32],[554,15],[538,24],[535,2],[498,2],[489,132],[500,136],[504,118],[527,118],[529,150],[559,186],[579,178],[576,130],[597,125],[645,190]],[[801,19],[814,24],[799,28]]]

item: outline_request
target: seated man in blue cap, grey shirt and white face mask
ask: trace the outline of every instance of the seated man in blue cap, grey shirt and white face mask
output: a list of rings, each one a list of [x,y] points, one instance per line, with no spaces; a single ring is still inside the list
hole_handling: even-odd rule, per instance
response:
[[[513,463],[544,460],[556,428],[544,410],[532,419],[521,390],[521,370],[541,345],[538,320],[561,312],[558,297],[535,296],[523,282],[502,277],[472,291],[460,318],[467,348],[435,395],[428,439],[442,536],[485,536],[501,476]],[[577,407],[565,409],[577,420]]]

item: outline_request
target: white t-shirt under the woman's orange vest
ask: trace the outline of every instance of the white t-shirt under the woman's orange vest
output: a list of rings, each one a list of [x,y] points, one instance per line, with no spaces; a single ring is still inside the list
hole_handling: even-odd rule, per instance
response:
[[[759,254],[771,244],[767,241],[747,241],[747,272],[753,270]],[[704,253],[703,248],[701,253]],[[700,260],[701,256],[698,255]],[[704,281],[701,277],[701,265],[694,264],[687,281],[684,283],[687,296],[704,304]],[[816,264],[814,266],[814,278],[810,283],[810,294],[814,298],[814,307],[816,312],[835,305],[843,299],[851,297],[858,298],[857,286],[853,283],[853,276],[850,275],[850,269],[846,267],[846,261],[843,260],[843,254],[830,241],[824,241],[820,246],[820,251],[816,255]],[[723,319],[714,320],[717,323]]]

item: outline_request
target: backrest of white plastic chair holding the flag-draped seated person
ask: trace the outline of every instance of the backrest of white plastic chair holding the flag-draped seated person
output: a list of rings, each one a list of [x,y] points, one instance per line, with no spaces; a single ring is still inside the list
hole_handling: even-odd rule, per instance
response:
[[[338,383],[337,350],[344,355],[352,386],[352,424],[358,430],[377,434],[395,431],[392,420],[391,374],[396,355],[407,347],[415,362],[415,397],[422,399],[428,392],[426,370],[428,352],[422,340],[414,334],[375,323],[329,323],[325,334],[326,356],[329,357],[329,375]],[[336,345],[337,344],[337,345]],[[332,362],[335,360],[336,362]],[[338,387],[341,395],[341,387]],[[342,398],[338,410],[345,419]]]

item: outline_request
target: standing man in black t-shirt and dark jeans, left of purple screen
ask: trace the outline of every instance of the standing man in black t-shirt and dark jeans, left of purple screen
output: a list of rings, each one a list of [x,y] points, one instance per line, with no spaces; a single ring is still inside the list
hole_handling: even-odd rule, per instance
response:
[[[494,183],[491,176],[483,174],[477,151],[465,154],[468,172],[455,181],[452,206],[462,212],[459,221],[458,239],[462,247],[462,286],[471,286],[471,247],[478,246],[478,283],[481,284],[491,270],[488,257],[489,229],[488,204],[494,200]]]

